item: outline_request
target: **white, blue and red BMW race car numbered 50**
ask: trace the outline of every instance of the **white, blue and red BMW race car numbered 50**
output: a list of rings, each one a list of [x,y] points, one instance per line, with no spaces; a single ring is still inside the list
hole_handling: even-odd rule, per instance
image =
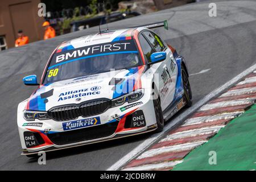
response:
[[[18,105],[22,154],[159,132],[192,105],[185,60],[151,28],[102,31],[53,51],[31,97]]]

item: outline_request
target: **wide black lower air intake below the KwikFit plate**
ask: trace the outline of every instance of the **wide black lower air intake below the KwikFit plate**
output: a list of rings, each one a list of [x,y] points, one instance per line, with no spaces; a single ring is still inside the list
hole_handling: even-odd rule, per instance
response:
[[[57,145],[85,142],[86,140],[109,137],[117,129],[118,122],[86,127],[84,129],[64,131],[61,133],[47,134],[47,137]]]

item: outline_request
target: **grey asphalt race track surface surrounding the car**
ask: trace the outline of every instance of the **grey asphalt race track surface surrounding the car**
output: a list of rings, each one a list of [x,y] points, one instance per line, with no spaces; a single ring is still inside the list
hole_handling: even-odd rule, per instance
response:
[[[209,2],[216,2],[217,17],[208,16]],[[189,73],[210,69],[190,77],[194,103],[256,63],[256,1],[194,3],[114,22],[109,27],[114,30],[163,19],[168,20],[170,29],[155,31],[185,57]],[[144,134],[51,152],[46,165],[20,155],[16,109],[35,89],[24,86],[22,78],[31,74],[40,77],[49,55],[64,40],[93,32],[98,32],[98,27],[0,53],[0,170],[105,170],[150,137]]]

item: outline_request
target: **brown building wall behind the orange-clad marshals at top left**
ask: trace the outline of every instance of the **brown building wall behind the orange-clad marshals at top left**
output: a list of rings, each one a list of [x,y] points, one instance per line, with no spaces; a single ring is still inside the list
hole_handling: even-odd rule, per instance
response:
[[[43,39],[43,17],[38,16],[40,0],[1,0],[0,36],[6,39],[7,47],[14,47],[18,30],[29,36],[30,42]]]

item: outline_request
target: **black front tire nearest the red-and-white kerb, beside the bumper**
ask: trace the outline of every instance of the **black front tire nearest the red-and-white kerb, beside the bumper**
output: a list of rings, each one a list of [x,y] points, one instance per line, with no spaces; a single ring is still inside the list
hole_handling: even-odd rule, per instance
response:
[[[163,118],[163,111],[160,105],[160,98],[153,100],[154,108],[155,108],[155,118],[156,123],[158,125],[158,129],[155,130],[156,133],[163,131],[164,127],[164,118]]]

